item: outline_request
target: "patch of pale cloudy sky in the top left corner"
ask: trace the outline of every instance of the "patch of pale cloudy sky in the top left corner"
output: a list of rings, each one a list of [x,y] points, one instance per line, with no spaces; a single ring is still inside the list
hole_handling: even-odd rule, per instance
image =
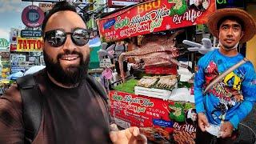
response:
[[[22,10],[32,2],[22,0],[0,0],[0,38],[10,40],[10,28],[24,29],[22,22]],[[38,6],[38,2],[34,2]]]

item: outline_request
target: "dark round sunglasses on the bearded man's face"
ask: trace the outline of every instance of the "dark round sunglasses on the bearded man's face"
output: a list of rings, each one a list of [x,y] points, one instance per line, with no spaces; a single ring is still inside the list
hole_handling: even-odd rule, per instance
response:
[[[90,30],[76,28],[73,32],[65,32],[62,29],[46,31],[44,41],[50,46],[59,47],[66,42],[66,35],[71,34],[72,42],[77,46],[85,46],[90,38]]]

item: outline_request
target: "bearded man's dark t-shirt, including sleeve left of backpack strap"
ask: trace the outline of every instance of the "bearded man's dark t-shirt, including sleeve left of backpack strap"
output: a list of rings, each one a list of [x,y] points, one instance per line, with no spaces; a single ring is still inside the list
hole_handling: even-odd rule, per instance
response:
[[[42,122],[36,144],[110,143],[109,118],[106,102],[83,80],[72,89],[56,86],[46,76],[38,74],[36,82],[42,91]],[[99,101],[96,100],[99,98]],[[10,117],[0,118],[0,142],[23,142],[22,104],[17,86],[12,86],[0,98],[0,112]],[[8,109],[6,109],[8,107]],[[101,109],[103,107],[103,109]],[[1,115],[2,113],[0,113]]]

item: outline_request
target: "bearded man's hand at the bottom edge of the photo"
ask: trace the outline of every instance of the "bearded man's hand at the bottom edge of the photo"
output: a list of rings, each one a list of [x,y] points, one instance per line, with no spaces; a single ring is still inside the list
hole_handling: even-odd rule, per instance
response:
[[[138,127],[126,130],[110,131],[110,139],[114,144],[146,144],[146,136],[139,134]]]

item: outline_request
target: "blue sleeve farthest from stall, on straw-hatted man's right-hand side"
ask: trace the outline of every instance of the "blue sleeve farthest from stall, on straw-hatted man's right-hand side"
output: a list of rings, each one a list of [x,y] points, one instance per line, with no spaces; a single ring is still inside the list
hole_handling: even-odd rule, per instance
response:
[[[246,72],[245,78],[242,81],[242,95],[244,100],[236,110],[234,116],[230,118],[230,122],[235,129],[238,128],[239,122],[241,122],[243,118],[246,118],[246,116],[250,113],[254,106],[254,102],[256,101],[256,74],[254,67],[251,65],[246,69],[248,71]]]

